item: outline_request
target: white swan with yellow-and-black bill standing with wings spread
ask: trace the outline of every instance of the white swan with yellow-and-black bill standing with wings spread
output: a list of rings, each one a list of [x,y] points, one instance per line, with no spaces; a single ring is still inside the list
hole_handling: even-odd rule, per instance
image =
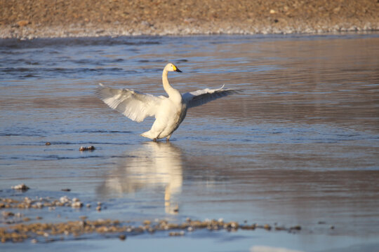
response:
[[[168,83],[169,71],[182,72],[172,63],[168,63],[164,67],[162,82],[168,97],[156,97],[152,94],[144,94],[127,88],[115,89],[102,85],[102,83],[99,83],[100,87],[95,91],[95,94],[111,109],[123,113],[124,116],[137,123],[142,122],[148,116],[154,116],[155,121],[152,128],[140,136],[153,141],[166,137],[166,141],[169,141],[173,132],[184,120],[187,109],[242,91],[231,88],[224,89],[222,86],[218,89],[206,88],[180,94]]]

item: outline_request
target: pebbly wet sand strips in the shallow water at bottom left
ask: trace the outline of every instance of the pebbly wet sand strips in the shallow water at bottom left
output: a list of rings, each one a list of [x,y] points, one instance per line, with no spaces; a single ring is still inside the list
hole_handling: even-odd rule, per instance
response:
[[[1,222],[6,224],[0,225],[0,241],[22,242],[30,240],[32,243],[37,242],[52,242],[63,241],[64,239],[86,239],[93,238],[98,235],[111,235],[111,238],[119,237],[121,240],[126,239],[126,235],[142,235],[144,233],[154,234],[155,232],[168,232],[169,237],[183,236],[186,232],[194,232],[195,230],[227,230],[236,232],[237,230],[255,230],[264,229],[267,231],[286,231],[300,232],[300,225],[295,225],[290,228],[284,226],[272,227],[270,224],[258,225],[256,223],[239,224],[237,221],[205,220],[197,221],[187,218],[182,223],[171,223],[165,219],[154,218],[153,220],[144,220],[140,223],[133,220],[114,220],[114,219],[98,219],[89,220],[88,216],[79,216],[80,220],[69,220],[62,222],[61,214],[65,215],[65,210],[60,208],[72,207],[73,209],[81,209],[84,207],[83,202],[77,198],[70,199],[67,196],[62,196],[60,199],[52,197],[37,197],[31,199],[29,197],[0,197]],[[96,211],[101,211],[102,203],[98,202]],[[86,208],[91,209],[91,204],[86,204]],[[32,209],[44,209],[48,211],[56,211],[59,215],[53,222],[42,220],[43,217],[29,217],[32,214]],[[20,212],[20,209],[29,209],[25,213]],[[93,207],[94,209],[94,207]],[[69,216],[65,216],[69,218]],[[42,220],[42,221],[41,221]],[[52,220],[50,220],[52,221]],[[91,237],[92,235],[92,237]],[[82,238],[83,239],[83,238]]]

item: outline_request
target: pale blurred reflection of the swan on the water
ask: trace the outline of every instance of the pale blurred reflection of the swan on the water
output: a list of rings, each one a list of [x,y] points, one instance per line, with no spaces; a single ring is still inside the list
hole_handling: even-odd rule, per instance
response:
[[[170,142],[147,142],[142,148],[128,153],[129,158],[109,174],[99,188],[100,194],[135,193],[142,188],[165,188],[165,209],[175,212],[171,196],[182,189],[182,155]],[[163,195],[162,195],[163,200]]]

